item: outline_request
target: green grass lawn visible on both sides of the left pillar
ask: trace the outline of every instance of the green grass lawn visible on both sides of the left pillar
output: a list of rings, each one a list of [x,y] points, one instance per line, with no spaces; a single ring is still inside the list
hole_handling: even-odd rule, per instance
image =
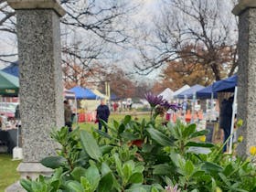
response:
[[[131,115],[133,119],[137,118],[138,121],[149,120],[149,114],[131,112]],[[112,113],[109,123],[112,123],[112,120],[121,121],[124,116],[122,113]],[[78,126],[88,131],[91,131],[91,127],[98,129],[97,123],[79,123]],[[19,179],[19,174],[16,172],[16,167],[19,163],[20,161],[12,161],[12,155],[0,154],[0,192],[4,192],[5,187],[10,186]]]

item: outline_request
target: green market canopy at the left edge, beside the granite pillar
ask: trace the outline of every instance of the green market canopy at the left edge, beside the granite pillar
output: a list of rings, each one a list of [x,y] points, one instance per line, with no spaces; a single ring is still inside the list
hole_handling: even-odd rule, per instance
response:
[[[18,78],[0,70],[0,95],[16,97],[18,95],[18,90]]]

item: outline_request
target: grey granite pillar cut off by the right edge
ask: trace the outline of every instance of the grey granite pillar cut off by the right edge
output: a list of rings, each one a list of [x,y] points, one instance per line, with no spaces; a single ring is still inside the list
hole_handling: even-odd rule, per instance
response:
[[[249,155],[256,145],[256,1],[240,0],[233,14],[239,16],[238,119],[243,120],[238,154]]]

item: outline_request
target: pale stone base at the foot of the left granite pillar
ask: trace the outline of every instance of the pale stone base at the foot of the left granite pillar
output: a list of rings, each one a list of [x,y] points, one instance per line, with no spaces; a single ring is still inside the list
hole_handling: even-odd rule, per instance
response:
[[[31,178],[32,180],[36,180],[39,175],[51,176],[53,173],[52,169],[40,163],[20,163],[16,170],[19,172],[21,178]],[[15,184],[7,187],[5,192],[26,192],[26,190],[17,181]]]

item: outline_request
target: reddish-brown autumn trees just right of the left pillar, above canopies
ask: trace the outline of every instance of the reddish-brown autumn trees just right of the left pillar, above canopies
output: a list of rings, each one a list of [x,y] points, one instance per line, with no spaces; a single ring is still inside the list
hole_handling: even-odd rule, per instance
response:
[[[106,82],[108,82],[111,93],[116,94],[118,98],[133,97],[135,93],[133,80],[126,76],[123,69],[116,66],[106,67],[100,63],[94,63],[93,68],[85,70],[80,65],[69,64],[63,67],[63,72],[67,89],[79,85],[105,93]]]

